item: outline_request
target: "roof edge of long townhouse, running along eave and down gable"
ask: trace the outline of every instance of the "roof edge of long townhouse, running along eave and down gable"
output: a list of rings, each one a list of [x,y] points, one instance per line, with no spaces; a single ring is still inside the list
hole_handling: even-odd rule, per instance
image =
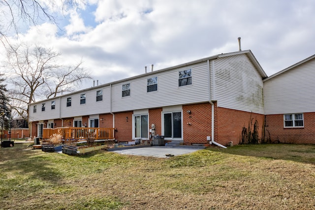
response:
[[[252,51],[251,50],[241,50],[241,51],[236,51],[236,52],[231,52],[231,53],[224,53],[224,54],[222,53],[222,54],[219,54],[219,55],[214,55],[214,56],[210,56],[210,57],[206,57],[206,58],[190,61],[188,63],[179,64],[179,65],[176,65],[176,66],[173,66],[173,67],[168,67],[168,68],[164,68],[164,69],[160,69],[160,70],[155,70],[155,71],[139,74],[139,75],[136,75],[136,76],[128,77],[128,78],[125,78],[125,79],[109,82],[109,83],[106,83],[106,84],[102,84],[102,85],[98,85],[98,86],[94,86],[94,87],[90,87],[90,88],[86,88],[86,89],[82,89],[82,90],[78,90],[78,91],[75,91],[75,92],[67,93],[67,94],[56,96],[56,97],[53,97],[53,98],[44,99],[44,100],[41,100],[41,101],[38,101],[38,102],[33,102],[33,103],[29,104],[29,105],[38,104],[39,102],[42,103],[42,102],[46,102],[46,101],[51,101],[51,100],[58,99],[58,98],[61,98],[61,97],[70,96],[70,95],[73,95],[73,94],[76,94],[76,93],[79,93],[79,92],[89,91],[89,90],[93,90],[93,89],[97,89],[97,88],[102,88],[102,87],[106,87],[106,86],[109,86],[109,85],[113,85],[113,84],[121,83],[121,82],[124,82],[124,81],[128,81],[128,80],[131,80],[131,79],[140,78],[140,77],[143,77],[143,76],[147,76],[147,75],[151,75],[151,74],[155,74],[155,73],[159,73],[159,72],[163,72],[163,71],[167,71],[167,70],[182,68],[182,67],[190,66],[190,65],[193,65],[193,64],[206,62],[208,60],[215,60],[215,59],[218,59],[218,58],[223,58],[223,57],[233,56],[233,55],[239,55],[239,54],[250,55],[249,58],[252,61],[253,65],[259,70],[260,75],[263,78],[267,77],[267,74],[264,72],[264,70],[261,68],[261,66],[257,62],[256,58],[252,54]]]

